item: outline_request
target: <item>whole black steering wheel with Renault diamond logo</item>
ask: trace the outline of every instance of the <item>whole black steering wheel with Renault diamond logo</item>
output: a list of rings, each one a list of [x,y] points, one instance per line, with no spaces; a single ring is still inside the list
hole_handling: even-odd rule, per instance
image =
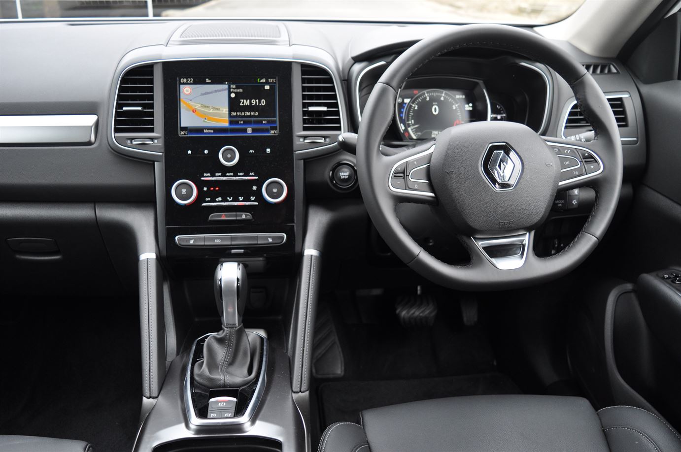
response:
[[[577,146],[522,124],[481,121],[449,127],[415,146],[381,146],[402,83],[434,57],[468,47],[508,50],[554,69],[571,86],[595,139]],[[366,103],[357,159],[364,204],[385,242],[415,272],[453,289],[509,289],[573,270],[603,238],[622,186],[620,135],[599,86],[548,39],[505,25],[464,25],[402,53]],[[560,253],[537,257],[535,229],[547,218],[556,191],[576,187],[596,193],[584,228]],[[430,204],[431,220],[442,216],[451,225],[470,262],[451,265],[421,248],[398,221],[400,203]]]

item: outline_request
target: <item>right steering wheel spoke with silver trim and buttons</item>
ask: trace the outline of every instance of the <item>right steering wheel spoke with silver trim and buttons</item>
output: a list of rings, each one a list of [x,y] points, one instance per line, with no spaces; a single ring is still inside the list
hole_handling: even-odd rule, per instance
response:
[[[559,190],[569,190],[586,185],[595,185],[603,173],[601,152],[595,142],[576,144],[569,140],[542,137],[546,145],[558,156],[560,172]]]

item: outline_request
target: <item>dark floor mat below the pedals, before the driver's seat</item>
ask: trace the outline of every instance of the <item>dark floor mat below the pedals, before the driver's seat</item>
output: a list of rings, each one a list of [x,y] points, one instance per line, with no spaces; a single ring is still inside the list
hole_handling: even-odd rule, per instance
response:
[[[334,381],[319,385],[322,428],[359,422],[360,411],[416,400],[485,394],[518,394],[510,378],[497,372],[391,381]]]

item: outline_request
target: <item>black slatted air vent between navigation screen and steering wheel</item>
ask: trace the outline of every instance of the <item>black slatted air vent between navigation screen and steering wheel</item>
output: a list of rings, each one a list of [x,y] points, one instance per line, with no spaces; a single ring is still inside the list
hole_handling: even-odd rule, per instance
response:
[[[340,110],[334,79],[326,69],[300,65],[302,129],[305,132],[340,132]]]

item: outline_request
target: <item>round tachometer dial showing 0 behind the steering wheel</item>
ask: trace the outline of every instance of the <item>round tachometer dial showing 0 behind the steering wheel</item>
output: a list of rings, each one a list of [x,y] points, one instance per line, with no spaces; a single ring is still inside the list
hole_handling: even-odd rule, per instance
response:
[[[455,125],[467,122],[466,99],[441,89],[427,89],[411,98],[405,107],[405,133],[412,140],[435,138]]]

